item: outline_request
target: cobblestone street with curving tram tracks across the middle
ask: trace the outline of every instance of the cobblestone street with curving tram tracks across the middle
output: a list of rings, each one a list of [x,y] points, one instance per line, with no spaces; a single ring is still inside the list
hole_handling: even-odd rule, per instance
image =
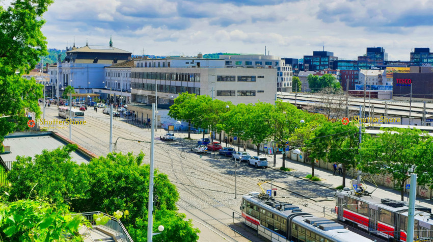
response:
[[[59,118],[56,107],[46,109],[45,116],[47,120]],[[86,125],[72,127],[72,140],[97,155],[106,155],[109,152],[110,116],[89,109],[85,113],[85,120]],[[55,131],[69,137],[68,128]],[[177,185],[180,194],[177,203],[179,211],[185,212],[187,218],[192,219],[193,224],[200,228],[200,241],[262,241],[253,230],[233,219],[233,212],[235,217],[240,212],[242,195],[259,191],[257,182],[260,180],[273,179],[279,200],[299,205],[304,211],[318,217],[335,218],[335,214],[331,213],[335,206],[335,201],[332,200],[333,190],[279,170],[255,169],[245,163],[238,163],[236,168],[235,198],[235,163],[231,157],[218,154],[202,154],[200,157],[200,154],[192,152],[191,148],[197,144],[201,135],[193,134],[195,140],[185,140],[185,133],[177,133],[176,142],[166,143],[159,140],[163,133],[165,131],[159,129],[155,132],[155,168],[166,173]],[[142,151],[146,154],[145,163],[149,163],[150,139],[149,129],[118,119],[113,121],[113,142],[116,143],[114,149],[117,152],[138,154]],[[251,151],[251,154],[255,153]],[[270,183],[262,186],[265,190],[271,188]],[[323,207],[326,207],[325,213]]]

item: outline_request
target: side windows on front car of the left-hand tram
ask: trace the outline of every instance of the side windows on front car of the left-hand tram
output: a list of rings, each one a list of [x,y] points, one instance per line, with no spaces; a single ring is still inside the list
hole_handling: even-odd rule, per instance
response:
[[[257,205],[242,200],[243,211],[249,214],[251,217],[260,220],[260,224],[270,230],[275,231],[283,236],[286,234],[287,220],[281,216],[278,216],[270,211],[258,207]]]

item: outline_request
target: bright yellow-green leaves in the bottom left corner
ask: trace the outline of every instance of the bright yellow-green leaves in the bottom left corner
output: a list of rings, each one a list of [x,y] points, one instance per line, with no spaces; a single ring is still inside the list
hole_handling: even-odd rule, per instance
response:
[[[83,216],[41,200],[18,200],[0,204],[2,241],[83,241],[77,233]],[[65,237],[65,235],[68,235]]]

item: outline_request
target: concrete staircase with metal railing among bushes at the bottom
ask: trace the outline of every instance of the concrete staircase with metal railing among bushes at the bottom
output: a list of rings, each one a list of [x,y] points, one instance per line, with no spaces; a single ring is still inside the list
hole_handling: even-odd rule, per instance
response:
[[[88,221],[93,221],[93,214],[99,214],[102,212],[84,212],[78,213],[84,216]],[[107,214],[104,214],[108,216]],[[110,217],[109,222],[105,225],[96,225],[91,222],[92,227],[88,228],[82,226],[79,229],[79,233],[84,236],[84,242],[95,242],[95,241],[105,241],[105,242],[133,242],[132,238],[129,236],[128,231],[126,231],[120,220]]]

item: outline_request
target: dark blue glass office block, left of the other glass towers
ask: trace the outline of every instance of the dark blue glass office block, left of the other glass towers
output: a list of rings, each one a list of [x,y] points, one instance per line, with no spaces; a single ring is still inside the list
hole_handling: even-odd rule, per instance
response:
[[[336,69],[338,57],[330,51],[313,51],[312,56],[304,56],[305,71],[320,71],[324,69]]]

